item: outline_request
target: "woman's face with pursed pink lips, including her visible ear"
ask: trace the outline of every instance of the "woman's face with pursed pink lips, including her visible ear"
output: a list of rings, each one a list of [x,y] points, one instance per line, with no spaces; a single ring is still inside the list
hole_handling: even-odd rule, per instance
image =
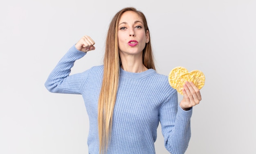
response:
[[[118,47],[121,55],[142,55],[149,41],[148,30],[145,33],[141,17],[133,11],[126,11],[118,24]]]

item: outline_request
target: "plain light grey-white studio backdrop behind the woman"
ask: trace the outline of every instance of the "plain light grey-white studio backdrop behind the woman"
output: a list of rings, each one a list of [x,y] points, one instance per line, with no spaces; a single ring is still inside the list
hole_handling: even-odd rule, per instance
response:
[[[96,50],[71,74],[101,65],[108,25],[124,7],[146,15],[159,74],[183,66],[206,77],[185,154],[254,153],[255,0],[9,0],[0,2],[0,154],[88,153],[82,96],[44,83],[83,35]],[[168,154],[160,125],[155,147]]]

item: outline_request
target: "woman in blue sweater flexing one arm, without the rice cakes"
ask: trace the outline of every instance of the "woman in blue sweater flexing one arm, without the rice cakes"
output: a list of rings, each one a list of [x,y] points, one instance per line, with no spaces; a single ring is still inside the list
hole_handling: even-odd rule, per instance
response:
[[[90,50],[95,50],[94,41],[82,37],[45,82],[51,92],[83,95],[89,153],[155,154],[160,122],[166,149],[183,154],[191,137],[191,107],[200,102],[200,91],[186,82],[178,104],[168,77],[155,72],[144,14],[132,7],[119,11],[108,29],[104,64],[69,76],[74,62]]]

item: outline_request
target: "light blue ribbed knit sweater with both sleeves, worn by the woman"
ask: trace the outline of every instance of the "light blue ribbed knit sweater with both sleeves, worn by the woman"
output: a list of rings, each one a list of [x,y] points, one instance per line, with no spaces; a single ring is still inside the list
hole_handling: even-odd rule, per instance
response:
[[[98,154],[97,116],[103,65],[69,75],[74,62],[84,55],[72,46],[49,75],[45,87],[53,93],[83,96],[90,121],[89,154]],[[184,154],[191,137],[191,115],[192,109],[184,111],[178,105],[177,91],[168,84],[167,76],[154,69],[132,73],[120,67],[108,154],[155,154],[159,122],[166,149],[171,154]]]

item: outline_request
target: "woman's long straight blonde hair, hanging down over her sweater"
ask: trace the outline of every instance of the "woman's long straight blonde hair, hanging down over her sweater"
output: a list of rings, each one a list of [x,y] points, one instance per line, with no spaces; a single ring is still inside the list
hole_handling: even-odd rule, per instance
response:
[[[118,49],[118,24],[121,15],[126,11],[136,12],[143,20],[145,32],[148,30],[145,15],[133,7],[127,7],[120,10],[110,22],[106,38],[105,56],[103,60],[103,82],[98,104],[99,153],[103,154],[107,153],[108,144],[111,140],[112,116],[117,97],[119,67],[121,66],[121,59]],[[143,50],[143,63],[148,69],[155,69],[150,35],[149,42],[146,43]]]

